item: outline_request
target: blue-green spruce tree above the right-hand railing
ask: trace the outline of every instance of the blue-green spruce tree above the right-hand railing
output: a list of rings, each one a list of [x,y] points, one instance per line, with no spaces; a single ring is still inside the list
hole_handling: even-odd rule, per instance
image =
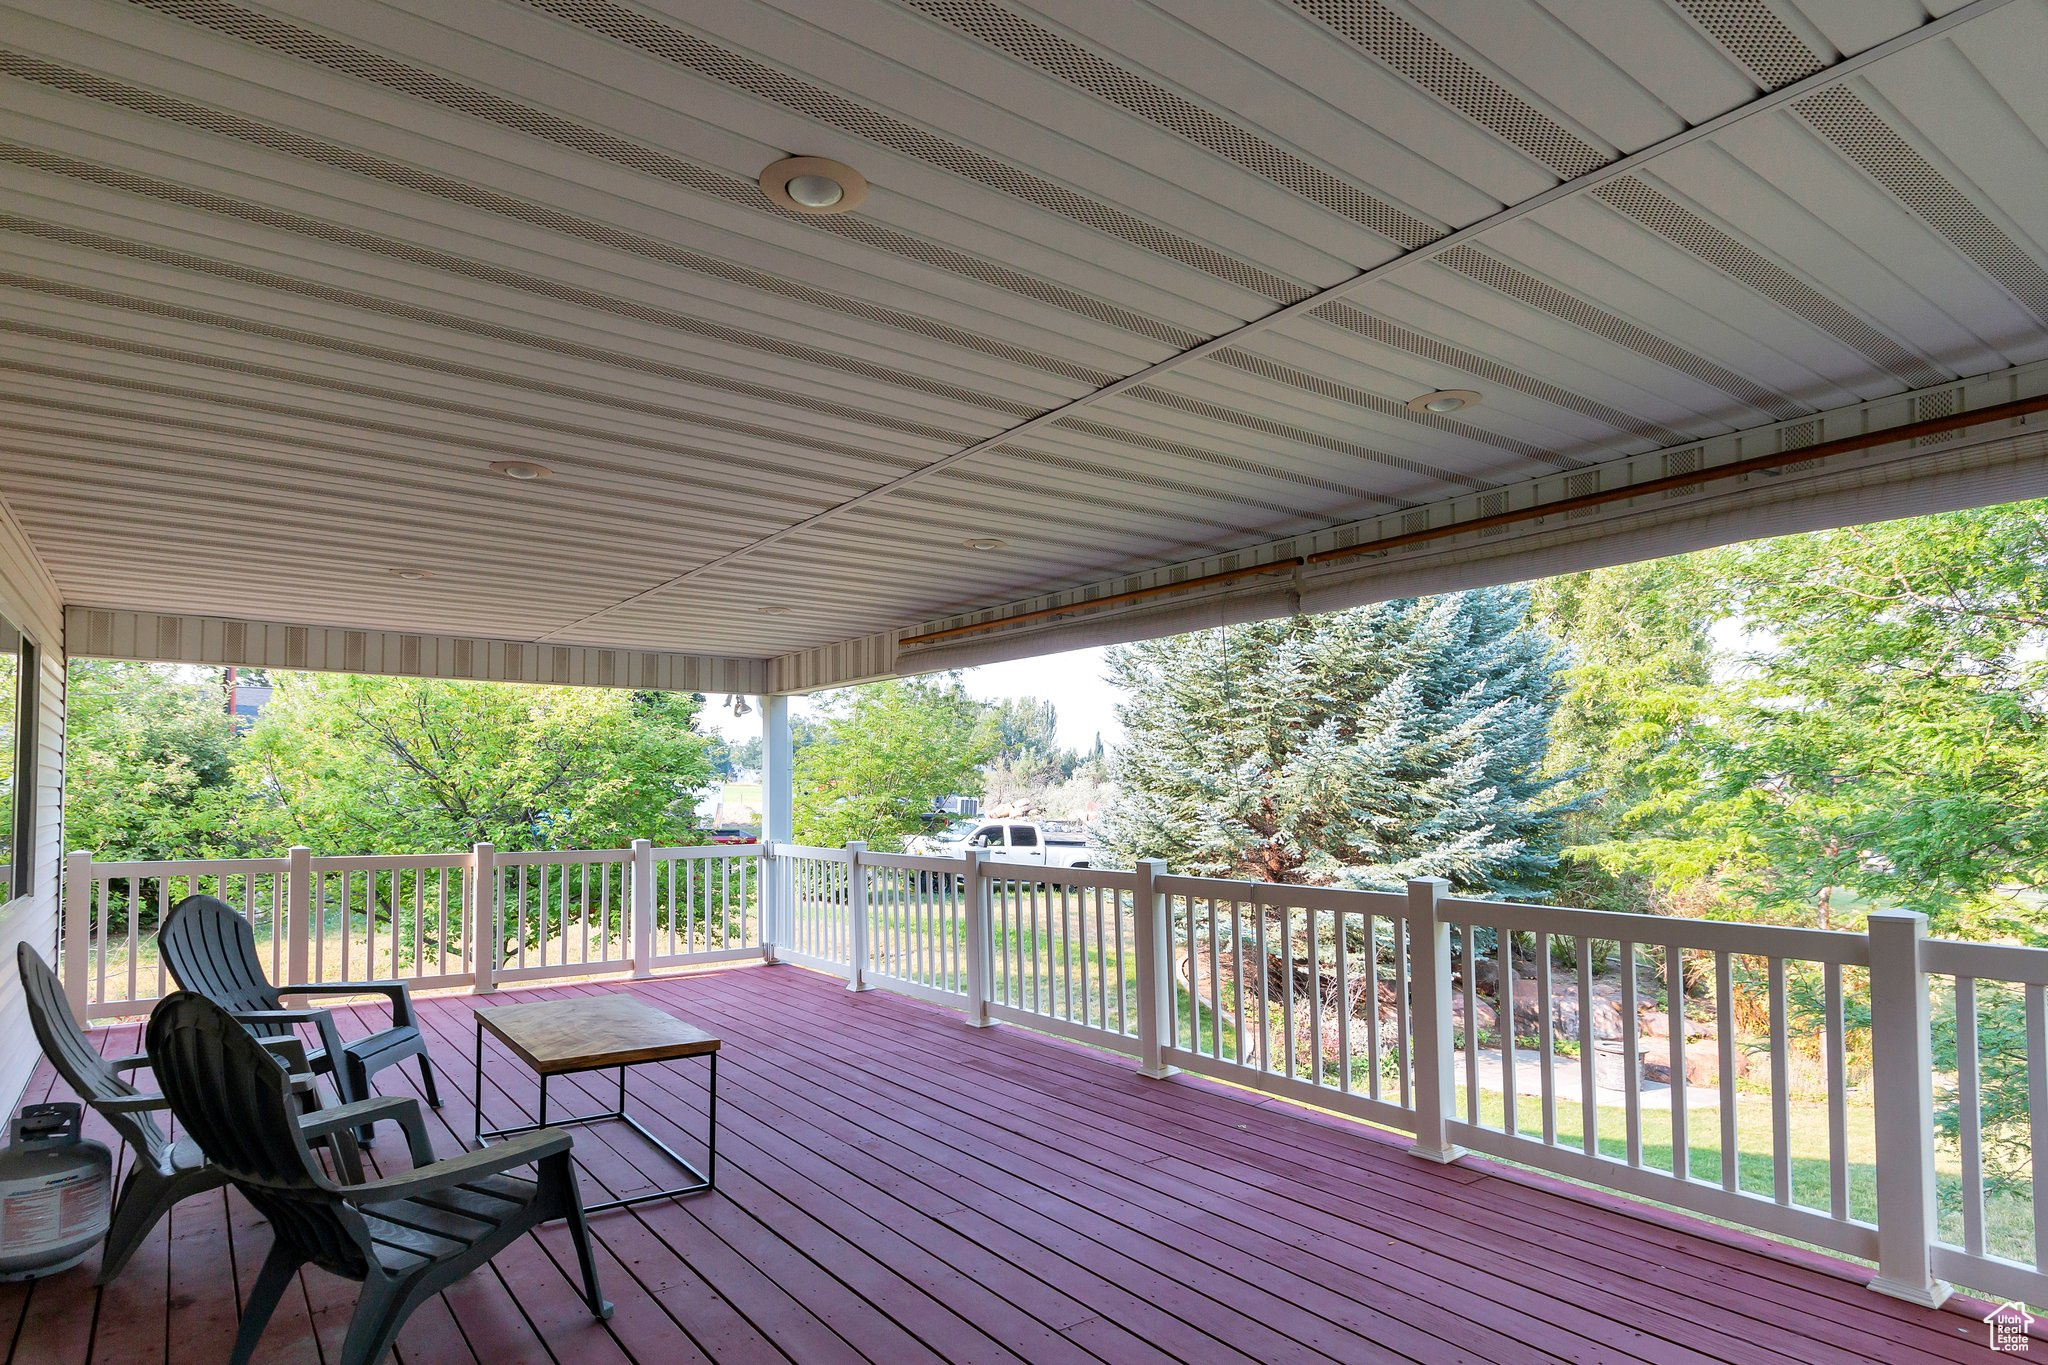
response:
[[[1556,864],[1559,663],[1520,587],[1108,655],[1120,857],[1268,882],[1526,892]]]

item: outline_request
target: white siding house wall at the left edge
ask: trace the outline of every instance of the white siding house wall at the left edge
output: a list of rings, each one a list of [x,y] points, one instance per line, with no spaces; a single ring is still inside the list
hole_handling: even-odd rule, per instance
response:
[[[35,1033],[20,1003],[14,972],[14,943],[29,939],[45,958],[57,952],[57,870],[63,814],[63,608],[57,585],[37,561],[12,514],[0,505],[0,612],[6,612],[37,645],[37,769],[20,774],[35,782],[35,831],[25,839],[35,860],[35,890],[0,905],[0,1103],[12,1115],[23,1083],[37,1062]],[[4,892],[0,892],[4,894]]]

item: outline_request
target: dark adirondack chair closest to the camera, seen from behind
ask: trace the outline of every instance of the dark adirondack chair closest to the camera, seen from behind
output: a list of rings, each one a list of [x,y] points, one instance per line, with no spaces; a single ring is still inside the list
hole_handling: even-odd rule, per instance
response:
[[[285,1074],[264,1062],[233,1015],[180,990],[150,1015],[147,1042],[170,1111],[274,1234],[242,1308],[233,1365],[254,1355],[301,1265],[362,1283],[340,1365],[373,1365],[414,1308],[553,1218],[569,1220],[590,1312],[612,1316],[598,1293],[563,1130],[520,1134],[383,1181],[336,1185],[305,1146]],[[539,1166],[539,1179],[508,1175],[522,1166]]]

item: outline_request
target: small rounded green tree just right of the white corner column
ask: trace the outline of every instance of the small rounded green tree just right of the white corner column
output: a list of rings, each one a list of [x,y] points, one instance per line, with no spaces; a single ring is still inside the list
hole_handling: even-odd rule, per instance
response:
[[[899,849],[934,800],[981,790],[997,743],[989,708],[956,675],[834,692],[797,749],[797,839]]]

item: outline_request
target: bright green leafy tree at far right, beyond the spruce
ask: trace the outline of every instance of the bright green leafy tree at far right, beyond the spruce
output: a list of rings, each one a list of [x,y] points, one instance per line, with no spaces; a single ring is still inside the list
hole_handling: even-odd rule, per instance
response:
[[[1692,557],[1761,645],[1645,763],[1597,849],[1747,913],[1829,923],[1837,888],[1937,933],[2040,939],[2048,862],[2048,503]]]

